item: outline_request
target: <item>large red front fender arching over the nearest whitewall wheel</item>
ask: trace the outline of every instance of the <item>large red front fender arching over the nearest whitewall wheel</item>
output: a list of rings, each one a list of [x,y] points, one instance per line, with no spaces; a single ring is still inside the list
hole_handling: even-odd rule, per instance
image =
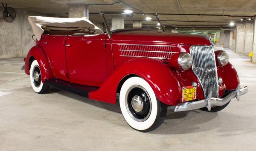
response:
[[[163,62],[149,58],[137,58],[125,62],[98,90],[90,92],[89,98],[116,103],[117,88],[122,79],[128,75],[137,75],[147,81],[161,102],[176,105],[180,101],[181,87],[171,69]]]

